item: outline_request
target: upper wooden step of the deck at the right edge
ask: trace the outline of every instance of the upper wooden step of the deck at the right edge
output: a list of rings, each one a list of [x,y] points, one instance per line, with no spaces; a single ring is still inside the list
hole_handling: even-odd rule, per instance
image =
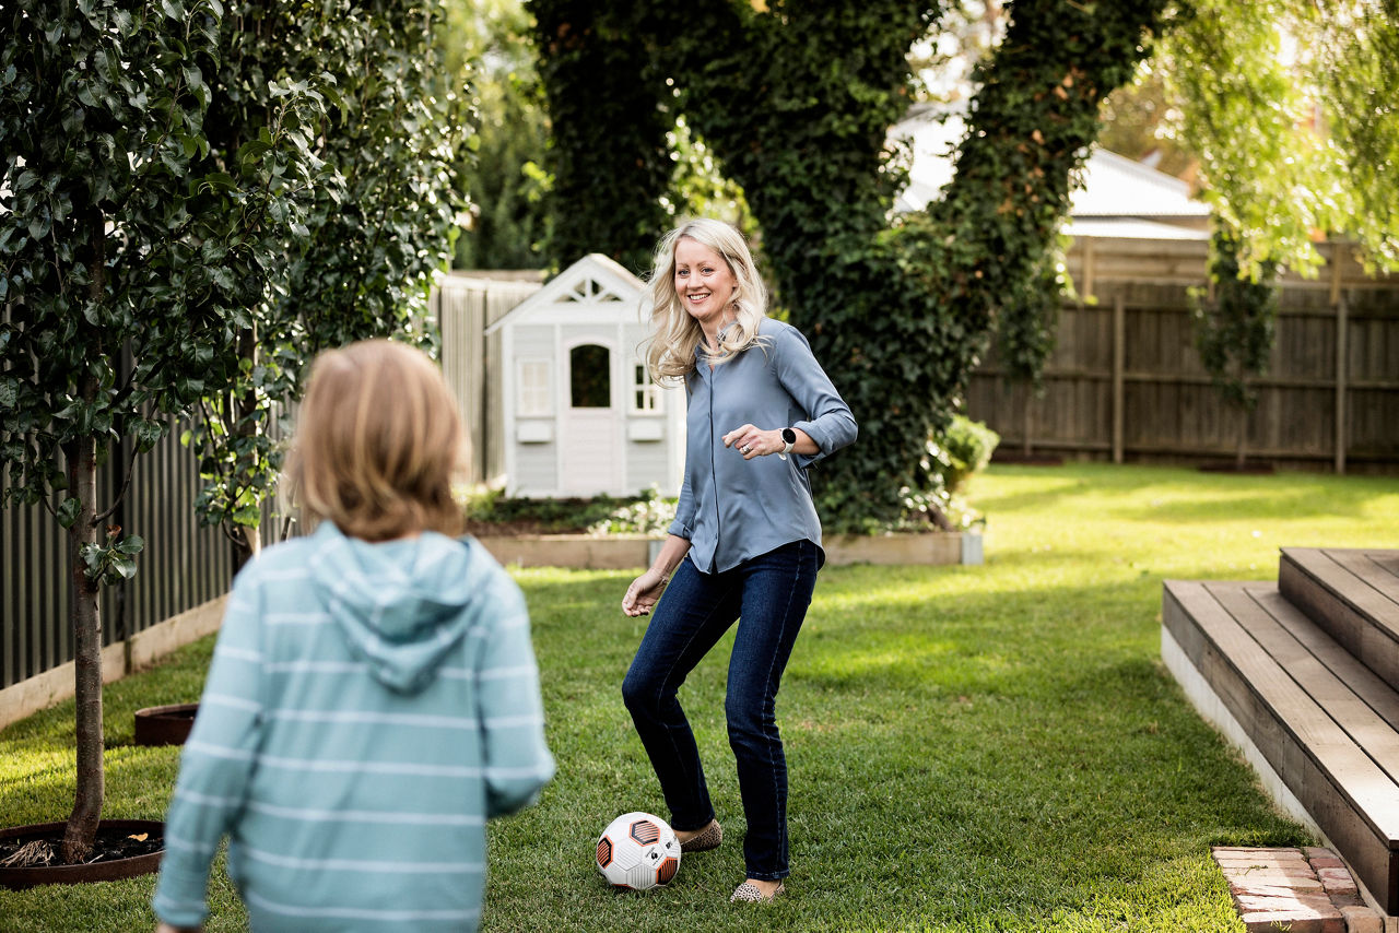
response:
[[[1399,688],[1399,551],[1284,547],[1277,587],[1346,650]]]

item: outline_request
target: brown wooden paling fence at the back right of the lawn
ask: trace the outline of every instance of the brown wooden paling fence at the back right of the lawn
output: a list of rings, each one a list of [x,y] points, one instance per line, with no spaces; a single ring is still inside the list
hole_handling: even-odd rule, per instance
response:
[[[1399,277],[1368,277],[1322,245],[1316,278],[1280,281],[1276,340],[1247,417],[1226,404],[1195,348],[1186,288],[1206,284],[1199,241],[1080,239],[1069,271],[1084,302],[1062,309],[1044,393],[1007,385],[995,351],[968,414],[1004,459],[1114,463],[1231,459],[1337,473],[1399,471]]]

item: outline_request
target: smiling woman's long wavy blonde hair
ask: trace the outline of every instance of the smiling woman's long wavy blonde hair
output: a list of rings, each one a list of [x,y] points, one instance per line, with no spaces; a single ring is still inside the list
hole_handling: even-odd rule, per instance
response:
[[[651,270],[651,333],[642,344],[646,369],[656,382],[684,379],[695,368],[695,348],[704,341],[700,322],[690,316],[676,294],[676,243],[693,239],[723,257],[739,285],[730,302],[734,326],[723,334],[709,362],[727,362],[758,343],[758,323],[768,312],[768,295],[743,234],[723,221],[686,221],[662,238]]]

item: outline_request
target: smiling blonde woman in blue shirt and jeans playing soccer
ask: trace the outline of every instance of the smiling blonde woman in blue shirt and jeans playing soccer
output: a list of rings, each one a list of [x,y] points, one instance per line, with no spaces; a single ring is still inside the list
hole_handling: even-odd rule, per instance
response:
[[[855,418],[806,337],[765,316],[753,256],[727,224],[672,231],[656,250],[651,297],[646,365],[658,382],[683,379],[688,390],[686,477],[656,562],[623,597],[628,615],[656,608],[623,697],[681,849],[716,848],[723,831],[676,691],[740,620],[725,713],[748,824],[747,878],[730,901],[771,901],[789,873],[776,691],[825,560],[806,470],[855,439]]]

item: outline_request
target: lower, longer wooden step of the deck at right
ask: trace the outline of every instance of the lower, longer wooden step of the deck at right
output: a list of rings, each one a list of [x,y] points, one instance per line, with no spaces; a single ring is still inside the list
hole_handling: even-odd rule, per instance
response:
[[[1379,906],[1399,913],[1399,692],[1272,583],[1168,581],[1161,618]]]

